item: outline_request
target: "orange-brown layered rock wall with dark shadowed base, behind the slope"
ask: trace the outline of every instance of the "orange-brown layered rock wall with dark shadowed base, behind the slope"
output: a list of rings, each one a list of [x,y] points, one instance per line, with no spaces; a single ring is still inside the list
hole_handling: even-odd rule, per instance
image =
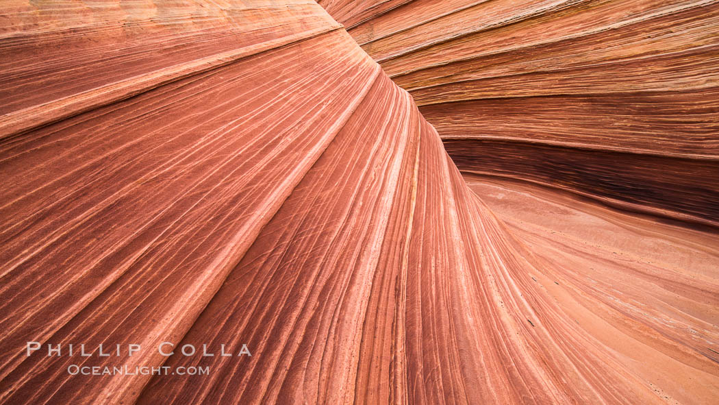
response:
[[[719,225],[718,1],[319,3],[463,172]]]

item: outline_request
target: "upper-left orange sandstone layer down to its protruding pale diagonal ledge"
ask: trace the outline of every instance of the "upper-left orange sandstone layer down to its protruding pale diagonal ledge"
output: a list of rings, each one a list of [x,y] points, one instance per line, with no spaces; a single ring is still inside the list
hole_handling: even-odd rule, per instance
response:
[[[342,27],[306,0],[17,3],[0,26],[2,137]]]

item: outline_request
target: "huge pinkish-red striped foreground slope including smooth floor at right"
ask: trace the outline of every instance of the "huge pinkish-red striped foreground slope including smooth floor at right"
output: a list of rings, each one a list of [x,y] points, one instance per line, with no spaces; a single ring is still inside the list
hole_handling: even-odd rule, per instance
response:
[[[336,15],[356,39],[401,4]],[[412,96],[429,104],[319,4],[2,12],[1,403],[719,397],[715,234],[472,183]]]

